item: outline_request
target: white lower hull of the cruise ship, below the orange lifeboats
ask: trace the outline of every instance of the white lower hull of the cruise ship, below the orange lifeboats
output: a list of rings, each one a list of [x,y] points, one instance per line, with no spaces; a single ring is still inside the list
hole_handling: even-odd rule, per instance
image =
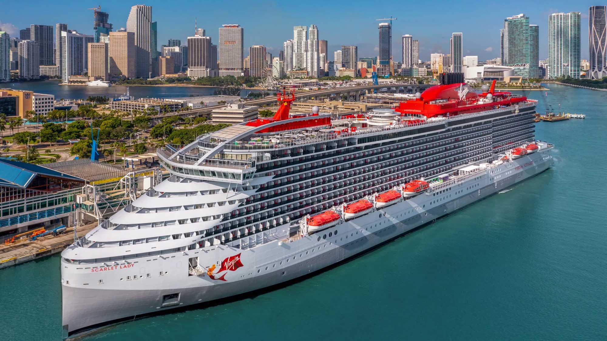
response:
[[[62,259],[62,277],[70,279],[69,285],[62,285],[64,334],[97,323],[266,288],[335,265],[543,172],[553,163],[549,152],[548,149],[525,155],[493,172],[453,185],[444,193],[427,192],[401,200],[290,242],[279,237],[249,249],[216,245],[141,257],[132,262],[131,267],[117,266],[104,272],[93,272],[90,265],[78,265],[76,269]],[[275,234],[284,234],[285,229],[287,225],[279,226]],[[209,252],[211,250],[213,252]],[[239,255],[242,266],[228,271],[225,281],[211,279],[207,274],[188,275],[188,262],[192,257],[199,257],[202,266],[211,266],[235,255]],[[147,274],[151,274],[150,277]],[[120,280],[127,275],[141,277]],[[103,284],[98,283],[101,278]],[[177,298],[166,300],[164,295],[169,294],[177,294]]]

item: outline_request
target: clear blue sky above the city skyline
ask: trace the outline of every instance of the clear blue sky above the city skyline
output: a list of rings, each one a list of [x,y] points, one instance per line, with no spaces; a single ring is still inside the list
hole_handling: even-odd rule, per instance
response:
[[[6,0],[8,1],[8,0]],[[132,5],[152,6],[152,21],[158,22],[158,49],[168,39],[194,35],[194,23],[206,30],[212,41],[219,41],[222,24],[240,24],[245,32],[245,56],[248,47],[264,45],[268,52],[278,55],[282,43],[293,39],[293,26],[316,24],[319,39],[328,41],[329,60],[342,45],[358,46],[358,56],[376,56],[378,24],[376,19],[398,18],[392,27],[392,55],[402,60],[401,36],[409,34],[419,40],[419,54],[424,61],[430,53],[449,53],[452,32],[463,33],[464,55],[478,55],[479,60],[498,57],[500,29],[507,16],[524,13],[531,24],[540,27],[540,59],[548,58],[548,15],[558,12],[582,13],[582,58],[588,58],[588,7],[605,5],[586,0],[565,1],[401,1],[386,2],[388,6],[367,0],[349,1],[195,1],[148,0],[129,1],[61,1],[28,0],[27,10],[13,12],[4,7],[0,12],[0,30],[18,36],[19,29],[30,24],[55,25],[67,23],[68,29],[93,34],[93,11],[87,7],[101,5],[109,13],[114,30],[126,27]],[[52,8],[50,4],[52,3]],[[19,7],[18,7],[19,8]],[[8,9],[8,10],[7,10]],[[15,35],[16,33],[16,35]]]

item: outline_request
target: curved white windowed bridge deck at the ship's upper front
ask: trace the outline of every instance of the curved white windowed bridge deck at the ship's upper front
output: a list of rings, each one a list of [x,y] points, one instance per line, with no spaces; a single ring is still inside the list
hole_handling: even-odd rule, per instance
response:
[[[209,181],[223,181],[230,183],[243,183],[253,178],[255,174],[255,160],[234,160],[227,158],[206,158],[196,165],[203,155],[197,152],[182,153],[170,147],[157,149],[160,163],[172,174],[189,178],[200,178]]]

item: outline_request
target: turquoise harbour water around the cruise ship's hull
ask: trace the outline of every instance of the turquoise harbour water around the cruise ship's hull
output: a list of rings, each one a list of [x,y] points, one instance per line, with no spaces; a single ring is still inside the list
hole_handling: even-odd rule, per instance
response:
[[[285,288],[84,340],[607,339],[607,92],[549,87],[587,115],[537,124],[552,169]],[[2,339],[59,339],[58,256],[0,271],[0,292]]]

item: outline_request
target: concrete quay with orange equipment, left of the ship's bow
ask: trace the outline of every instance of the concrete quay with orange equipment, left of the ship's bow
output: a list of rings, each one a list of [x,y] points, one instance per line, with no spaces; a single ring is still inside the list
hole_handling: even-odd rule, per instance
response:
[[[96,226],[97,222],[78,227],[78,237],[82,237]],[[8,245],[2,244],[0,245],[0,269],[61,252],[73,243],[73,235],[73,228],[68,228],[66,234],[56,237],[49,234],[37,238],[35,241],[27,239]]]

